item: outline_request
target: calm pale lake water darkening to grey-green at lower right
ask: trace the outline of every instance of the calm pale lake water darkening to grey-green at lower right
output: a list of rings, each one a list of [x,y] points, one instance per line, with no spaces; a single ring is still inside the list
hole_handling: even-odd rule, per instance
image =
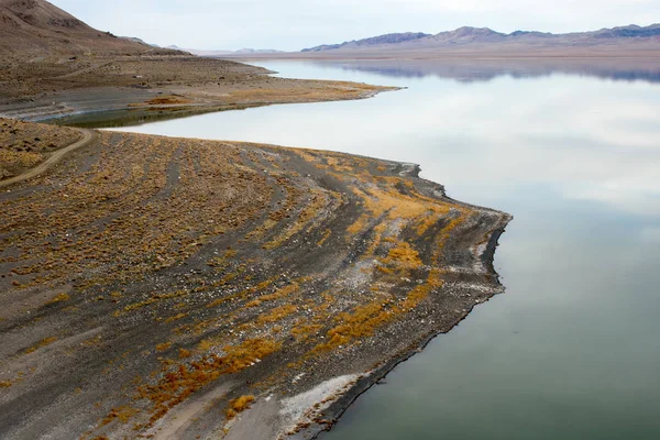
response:
[[[125,130],[416,162],[515,216],[495,261],[506,294],[323,439],[660,439],[660,66],[262,65],[408,89]]]

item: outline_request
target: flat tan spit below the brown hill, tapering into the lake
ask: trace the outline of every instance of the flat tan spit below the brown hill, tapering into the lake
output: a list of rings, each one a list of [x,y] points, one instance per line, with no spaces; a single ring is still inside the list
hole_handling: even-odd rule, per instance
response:
[[[122,118],[153,119],[360,99],[395,89],[267,74],[261,67],[193,56],[15,61],[0,75],[0,117],[42,121],[121,111]]]

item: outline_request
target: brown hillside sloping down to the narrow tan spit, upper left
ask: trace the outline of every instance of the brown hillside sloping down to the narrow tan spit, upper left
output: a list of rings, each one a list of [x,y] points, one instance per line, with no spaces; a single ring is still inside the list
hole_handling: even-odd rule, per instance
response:
[[[387,88],[273,78],[97,31],[44,0],[0,0],[0,117],[45,120],[121,112],[175,118],[276,102],[359,99]],[[246,51],[250,52],[250,51]],[[130,114],[129,114],[130,113]],[[106,119],[108,121],[108,119]]]

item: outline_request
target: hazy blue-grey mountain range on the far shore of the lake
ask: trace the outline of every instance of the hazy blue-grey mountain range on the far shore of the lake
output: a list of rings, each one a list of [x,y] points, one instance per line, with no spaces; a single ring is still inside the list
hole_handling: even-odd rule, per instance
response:
[[[402,54],[402,53],[465,53],[485,51],[493,54],[525,51],[562,51],[566,48],[619,50],[624,46],[660,51],[660,24],[650,26],[628,25],[602,29],[594,32],[552,34],[543,32],[516,31],[509,34],[488,28],[460,28],[438,34],[396,33],[354,40],[341,44],[323,44],[305,48],[301,53],[332,54]]]

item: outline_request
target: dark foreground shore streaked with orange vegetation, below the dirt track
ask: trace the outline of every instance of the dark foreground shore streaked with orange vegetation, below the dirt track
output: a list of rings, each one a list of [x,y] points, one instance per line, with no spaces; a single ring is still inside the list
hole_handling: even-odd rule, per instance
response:
[[[502,292],[510,217],[418,169],[101,132],[4,188],[0,437],[328,429]]]

